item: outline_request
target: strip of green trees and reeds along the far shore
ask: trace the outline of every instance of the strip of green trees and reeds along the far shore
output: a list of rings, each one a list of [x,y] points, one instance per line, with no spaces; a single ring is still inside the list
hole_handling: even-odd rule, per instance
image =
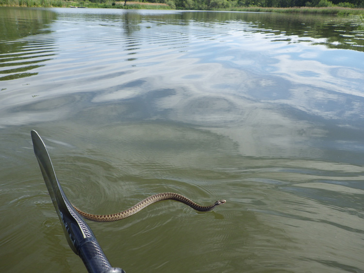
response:
[[[0,6],[224,10],[310,14],[364,14],[362,0],[0,0]]]

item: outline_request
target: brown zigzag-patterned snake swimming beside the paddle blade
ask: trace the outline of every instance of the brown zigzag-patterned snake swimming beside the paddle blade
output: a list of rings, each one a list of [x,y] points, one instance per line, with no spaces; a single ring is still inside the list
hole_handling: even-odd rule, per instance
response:
[[[124,211],[113,213],[113,214],[104,214],[104,215],[96,215],[96,214],[90,214],[87,212],[84,212],[80,209],[77,209],[75,206],[73,208],[85,219],[91,220],[94,222],[113,222],[118,221],[121,219],[125,219],[129,216],[132,216],[133,214],[139,212],[142,209],[145,209],[149,205],[163,201],[163,200],[175,200],[182,202],[188,206],[190,206],[192,209],[196,209],[197,211],[210,211],[214,209],[216,206],[222,205],[226,203],[226,200],[217,200],[214,204],[209,206],[200,206],[199,204],[196,204],[192,200],[188,199],[187,197],[178,194],[178,193],[158,193],[151,195],[144,200],[140,201],[138,204],[132,206],[130,209],[126,209]]]

